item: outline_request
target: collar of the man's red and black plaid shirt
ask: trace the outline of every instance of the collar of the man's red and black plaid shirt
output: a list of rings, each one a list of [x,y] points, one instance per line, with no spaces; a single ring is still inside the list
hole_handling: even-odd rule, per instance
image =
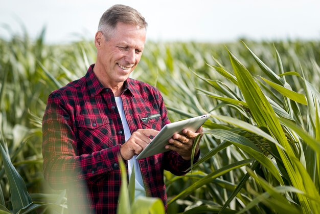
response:
[[[89,93],[92,97],[96,96],[97,94],[99,94],[102,90],[106,89],[98,80],[98,78],[96,77],[95,73],[94,73],[94,67],[95,64],[91,65],[88,68],[87,73],[85,74],[85,80],[86,80],[86,84],[89,90]],[[123,94],[131,94],[132,96],[134,96],[134,90],[133,90],[133,82],[132,79],[128,78],[125,82],[124,82],[124,91]]]

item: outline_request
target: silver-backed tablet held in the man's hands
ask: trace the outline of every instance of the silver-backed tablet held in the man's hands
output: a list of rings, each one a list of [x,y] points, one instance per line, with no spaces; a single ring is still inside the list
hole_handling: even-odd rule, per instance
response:
[[[151,142],[136,156],[136,159],[146,158],[159,153],[169,151],[165,146],[169,144],[168,140],[176,133],[181,133],[184,129],[189,129],[193,132],[209,118],[210,114],[201,115],[198,117],[189,118],[166,124],[162,130],[151,140]]]

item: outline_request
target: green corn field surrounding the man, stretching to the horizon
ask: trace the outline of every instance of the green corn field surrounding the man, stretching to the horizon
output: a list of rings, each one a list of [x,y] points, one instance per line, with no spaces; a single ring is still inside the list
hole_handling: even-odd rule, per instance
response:
[[[44,40],[45,29],[0,39],[0,213],[68,213],[65,191],[43,179],[41,120],[96,50]],[[319,41],[147,41],[132,77],[162,92],[170,120],[212,114],[191,172],[165,172],[168,213],[320,213],[319,65]],[[120,204],[164,213],[126,189]]]

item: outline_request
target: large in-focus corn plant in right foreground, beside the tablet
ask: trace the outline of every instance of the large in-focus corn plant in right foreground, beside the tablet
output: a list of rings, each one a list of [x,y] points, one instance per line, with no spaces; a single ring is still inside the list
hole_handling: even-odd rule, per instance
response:
[[[207,200],[202,199],[201,206],[192,204],[185,213],[319,213],[319,93],[306,80],[304,71],[301,70],[302,75],[284,72],[277,50],[279,75],[248,47],[246,49],[264,76],[252,75],[230,51],[234,73],[221,63],[211,67],[233,83],[233,88],[198,75],[211,87],[209,90],[198,88],[198,91],[220,101],[217,108],[210,111],[219,122],[207,123],[205,134],[221,142],[203,154],[195,166],[211,165],[206,162],[215,162],[216,154],[231,146],[233,154],[228,157],[232,163],[218,167],[212,164],[210,173],[207,170],[208,173],[189,174],[197,181],[169,204],[210,186],[212,194],[208,193]],[[300,93],[292,90],[286,77],[296,78],[302,86]],[[234,110],[228,110],[227,114],[218,111],[225,106],[234,109],[235,113]],[[221,124],[224,126],[217,127]],[[237,172],[236,178],[229,180],[225,176],[240,167],[242,170]],[[217,194],[218,189],[226,192],[224,199]],[[202,190],[202,196],[204,194]],[[192,198],[196,199],[195,196]],[[227,207],[233,209],[227,210]]]

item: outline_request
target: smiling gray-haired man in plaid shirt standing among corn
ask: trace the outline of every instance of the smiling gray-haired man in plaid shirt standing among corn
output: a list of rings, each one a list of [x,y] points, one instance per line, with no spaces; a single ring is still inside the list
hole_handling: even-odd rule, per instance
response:
[[[115,5],[108,9],[95,36],[96,63],[84,77],[49,96],[43,116],[44,178],[55,189],[67,189],[71,213],[116,212],[119,157],[129,176],[135,167],[136,196],[161,198],[165,207],[164,169],[184,175],[190,167],[198,135],[190,130],[175,134],[168,152],[135,159],[150,136],[170,122],[159,91],[128,78],[140,61],[146,27],[144,17],[133,8]],[[197,147],[195,160],[198,157]]]

